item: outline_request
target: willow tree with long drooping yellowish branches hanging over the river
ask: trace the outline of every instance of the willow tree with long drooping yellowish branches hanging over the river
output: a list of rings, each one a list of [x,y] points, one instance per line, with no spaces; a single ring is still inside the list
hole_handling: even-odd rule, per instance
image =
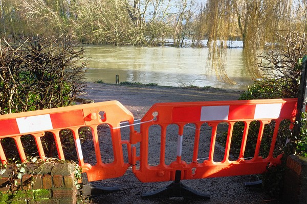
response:
[[[265,46],[278,43],[279,31],[306,31],[306,2],[293,0],[208,0],[204,33],[208,35],[209,58],[217,75],[231,80],[225,72],[227,40],[243,41],[246,68],[252,78],[260,78],[257,54]]]

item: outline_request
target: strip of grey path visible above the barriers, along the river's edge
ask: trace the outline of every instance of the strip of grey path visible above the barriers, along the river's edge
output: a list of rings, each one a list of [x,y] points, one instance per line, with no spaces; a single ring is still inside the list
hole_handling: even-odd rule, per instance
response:
[[[231,89],[187,89],[167,86],[127,86],[120,84],[90,83],[85,97],[95,102],[118,100],[135,117],[142,117],[155,103],[236,100],[240,90]]]

